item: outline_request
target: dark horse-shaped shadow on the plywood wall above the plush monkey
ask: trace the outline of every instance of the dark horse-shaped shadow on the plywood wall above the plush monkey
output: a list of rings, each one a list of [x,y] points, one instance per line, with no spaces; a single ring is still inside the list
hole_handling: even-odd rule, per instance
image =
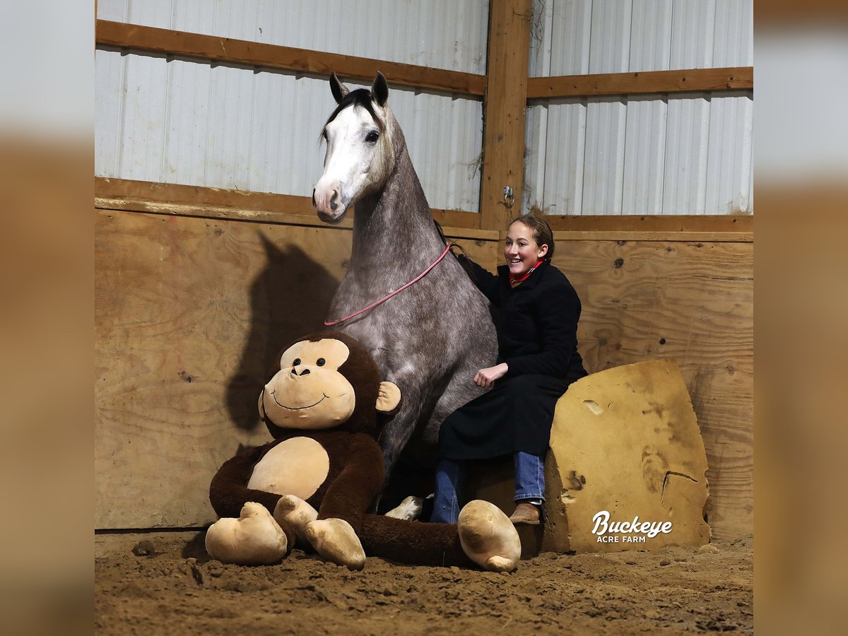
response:
[[[339,281],[297,246],[278,248],[259,234],[267,265],[250,287],[250,331],[226,390],[233,424],[259,425],[256,401],[276,354],[295,338],[326,328],[324,320]]]

